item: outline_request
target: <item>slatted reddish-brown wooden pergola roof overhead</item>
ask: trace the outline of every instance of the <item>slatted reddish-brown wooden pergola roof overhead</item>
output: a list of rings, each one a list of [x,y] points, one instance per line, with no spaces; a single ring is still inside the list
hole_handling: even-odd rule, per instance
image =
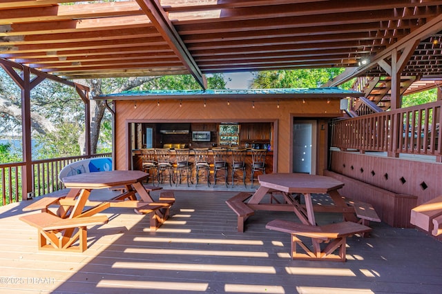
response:
[[[441,0],[73,0],[0,3],[0,57],[70,79],[391,64],[419,37],[403,75],[441,75]],[[32,25],[30,25],[32,23]],[[406,55],[408,56],[408,55]],[[385,76],[372,63],[353,76]]]

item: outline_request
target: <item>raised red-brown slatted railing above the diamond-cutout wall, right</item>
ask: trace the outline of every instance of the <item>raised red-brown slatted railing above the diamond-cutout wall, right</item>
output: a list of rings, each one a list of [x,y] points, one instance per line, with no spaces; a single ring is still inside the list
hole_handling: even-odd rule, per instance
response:
[[[435,155],[441,161],[442,101],[332,123],[332,146],[342,150]]]

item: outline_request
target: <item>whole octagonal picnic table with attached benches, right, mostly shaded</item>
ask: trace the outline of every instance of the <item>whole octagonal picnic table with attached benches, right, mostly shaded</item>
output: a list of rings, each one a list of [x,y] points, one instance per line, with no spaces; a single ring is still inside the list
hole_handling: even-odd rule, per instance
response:
[[[266,225],[266,228],[270,230],[291,234],[293,259],[327,259],[343,262],[345,261],[346,238],[356,233],[372,231],[368,226],[358,224],[359,219],[356,215],[362,204],[351,205],[345,197],[339,195],[338,189],[342,188],[344,183],[337,179],[300,173],[272,173],[259,175],[258,181],[260,187],[253,195],[239,193],[227,200],[229,207],[238,215],[238,231],[244,231],[245,220],[253,215],[255,210],[294,211],[301,223],[275,219]],[[270,199],[275,199],[273,194],[276,193],[282,194],[282,202],[263,202],[268,194],[271,195]],[[314,205],[312,194],[327,194],[334,203]],[[300,195],[304,196],[305,204],[300,204]],[[370,206],[365,206],[363,210],[370,210]],[[317,226],[315,211],[343,213],[345,221]],[[358,216],[375,219],[372,212],[374,210],[367,211],[367,215],[364,213]],[[307,246],[300,236],[311,238],[312,248]],[[321,243],[326,243],[327,246],[321,248]],[[297,246],[300,246],[304,253],[299,253]],[[334,254],[334,251],[338,251],[338,254]]]

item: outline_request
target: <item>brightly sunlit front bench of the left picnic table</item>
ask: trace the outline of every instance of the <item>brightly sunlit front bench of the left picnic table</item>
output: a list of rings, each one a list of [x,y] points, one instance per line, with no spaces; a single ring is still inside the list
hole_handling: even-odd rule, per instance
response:
[[[35,213],[19,218],[38,230],[39,249],[84,252],[88,248],[87,227],[106,224],[106,215],[63,219],[51,213]],[[77,233],[74,230],[77,229]],[[75,242],[78,245],[74,245]]]

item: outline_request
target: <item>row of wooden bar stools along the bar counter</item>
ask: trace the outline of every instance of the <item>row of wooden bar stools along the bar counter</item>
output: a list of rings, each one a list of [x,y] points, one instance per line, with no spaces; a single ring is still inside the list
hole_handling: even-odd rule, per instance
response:
[[[244,187],[247,188],[246,175],[247,149],[233,148],[213,148],[211,154],[209,148],[193,149],[195,157],[190,161],[189,148],[177,148],[175,152],[169,148],[147,148],[141,150],[142,170],[149,174],[148,182],[155,179],[158,183],[164,184],[169,182],[178,185],[186,179],[187,186],[193,184],[193,170],[195,171],[195,187],[200,181],[205,181],[207,186],[211,185],[210,177],[213,171],[213,184],[218,181],[224,181],[226,187],[229,186],[228,176],[231,172],[231,186],[235,182],[242,181]],[[229,152],[231,159],[229,160]],[[265,149],[251,149],[252,162],[250,166],[250,182],[253,188],[253,182],[259,174],[265,174]],[[194,168],[193,168],[194,166]],[[256,174],[258,172],[258,174]]]

